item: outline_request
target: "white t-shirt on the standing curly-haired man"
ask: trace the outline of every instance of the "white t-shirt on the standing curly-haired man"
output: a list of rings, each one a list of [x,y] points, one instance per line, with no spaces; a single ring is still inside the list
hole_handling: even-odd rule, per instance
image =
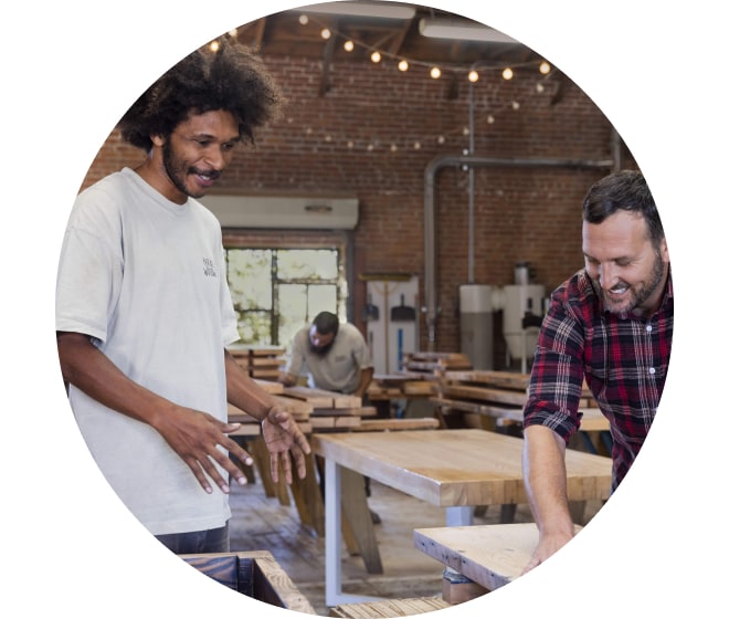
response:
[[[92,336],[131,380],[226,419],[223,348],[239,339],[220,223],[176,204],[129,168],[83,191],[61,252],[56,329]],[[71,386],[71,407],[116,493],[155,535],[223,526],[211,495],[150,426]]]

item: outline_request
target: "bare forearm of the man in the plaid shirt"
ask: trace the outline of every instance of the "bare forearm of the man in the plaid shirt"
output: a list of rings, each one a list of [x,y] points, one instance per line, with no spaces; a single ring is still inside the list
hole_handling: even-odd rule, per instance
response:
[[[537,526],[542,535],[571,536],[564,441],[543,426],[529,426],[524,436],[524,480]]]

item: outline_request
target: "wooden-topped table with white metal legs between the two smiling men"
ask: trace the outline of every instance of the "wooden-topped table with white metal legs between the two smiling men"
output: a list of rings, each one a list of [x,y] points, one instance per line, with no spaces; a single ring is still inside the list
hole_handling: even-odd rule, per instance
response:
[[[325,458],[327,605],[373,599],[341,589],[341,469],[444,507],[446,526],[464,526],[473,524],[477,505],[528,502],[521,473],[522,445],[520,438],[478,429],[311,437],[311,449]],[[566,465],[570,501],[609,499],[610,458],[567,450]]]

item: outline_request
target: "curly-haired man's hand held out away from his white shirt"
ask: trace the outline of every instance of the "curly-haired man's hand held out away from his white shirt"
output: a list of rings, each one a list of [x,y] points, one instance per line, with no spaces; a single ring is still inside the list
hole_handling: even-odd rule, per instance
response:
[[[266,441],[271,454],[271,476],[273,481],[278,481],[279,466],[284,469],[286,483],[290,484],[294,481],[292,455],[294,457],[298,479],[303,480],[306,476],[306,459],[304,457],[311,453],[311,448],[289,412],[283,408],[273,407],[262,421],[261,428],[263,439]]]

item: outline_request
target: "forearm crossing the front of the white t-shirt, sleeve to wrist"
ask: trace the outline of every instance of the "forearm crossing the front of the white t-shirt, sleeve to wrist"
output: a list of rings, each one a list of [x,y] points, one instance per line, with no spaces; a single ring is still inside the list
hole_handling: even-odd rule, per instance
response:
[[[175,403],[127,377],[80,333],[56,335],[63,379],[88,397],[123,415],[156,426]]]

